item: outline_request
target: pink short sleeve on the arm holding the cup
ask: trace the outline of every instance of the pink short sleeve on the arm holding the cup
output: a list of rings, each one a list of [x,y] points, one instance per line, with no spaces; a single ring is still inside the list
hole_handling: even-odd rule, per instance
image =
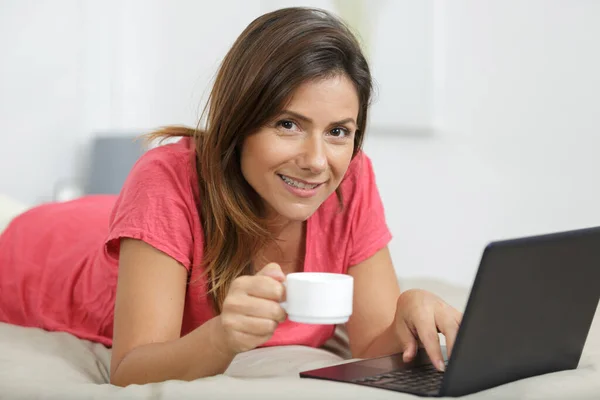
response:
[[[120,239],[138,239],[189,271],[194,251],[194,202],[187,179],[191,162],[168,146],[148,151],[132,168],[110,216],[105,251],[116,261]]]

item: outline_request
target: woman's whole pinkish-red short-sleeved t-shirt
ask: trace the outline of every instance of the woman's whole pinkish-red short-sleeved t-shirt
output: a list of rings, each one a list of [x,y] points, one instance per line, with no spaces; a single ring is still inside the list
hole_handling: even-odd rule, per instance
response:
[[[123,237],[147,242],[188,270],[182,335],[214,317],[198,267],[205,243],[194,157],[188,138],[160,146],[140,158],[116,199],[48,204],[15,219],[0,237],[0,320],[110,346]],[[304,271],[346,273],[391,239],[363,153],[352,161],[341,190],[342,212],[333,194],[307,221]],[[264,346],[318,347],[334,329],[288,320]]]

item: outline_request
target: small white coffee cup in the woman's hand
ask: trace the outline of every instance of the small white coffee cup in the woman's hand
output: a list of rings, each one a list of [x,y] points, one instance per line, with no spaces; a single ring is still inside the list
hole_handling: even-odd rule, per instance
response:
[[[341,324],[352,315],[354,279],[327,272],[295,272],[284,282],[281,303],[290,321],[304,324]]]

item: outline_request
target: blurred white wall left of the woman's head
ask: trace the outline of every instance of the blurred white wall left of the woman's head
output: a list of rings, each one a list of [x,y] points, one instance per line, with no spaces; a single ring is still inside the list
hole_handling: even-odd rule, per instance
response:
[[[250,0],[0,7],[0,192],[29,204],[85,173],[94,135],[194,124],[220,58],[261,11]]]

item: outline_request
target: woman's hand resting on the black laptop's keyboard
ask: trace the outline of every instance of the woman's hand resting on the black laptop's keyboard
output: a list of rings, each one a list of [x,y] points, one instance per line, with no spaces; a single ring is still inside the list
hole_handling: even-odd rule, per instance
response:
[[[446,338],[448,357],[452,352],[462,313],[433,293],[410,289],[398,297],[394,326],[403,351],[403,360],[411,361],[420,346],[425,347],[433,365],[445,369],[438,332]]]

